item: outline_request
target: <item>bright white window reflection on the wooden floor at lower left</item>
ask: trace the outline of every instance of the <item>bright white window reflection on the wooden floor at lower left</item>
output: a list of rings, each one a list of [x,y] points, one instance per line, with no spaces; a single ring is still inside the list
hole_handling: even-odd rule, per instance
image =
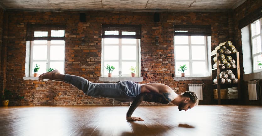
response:
[[[6,128],[4,135],[59,136],[67,132],[71,122],[70,111],[66,108],[29,107],[13,111],[11,118],[16,118],[17,122],[4,120],[12,128]]]

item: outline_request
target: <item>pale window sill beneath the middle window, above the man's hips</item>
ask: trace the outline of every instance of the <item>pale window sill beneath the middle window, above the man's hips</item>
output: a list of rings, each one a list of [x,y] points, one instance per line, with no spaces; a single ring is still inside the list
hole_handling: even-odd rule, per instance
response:
[[[119,81],[133,81],[133,82],[142,82],[143,77],[99,77],[99,81],[103,82],[119,82]]]

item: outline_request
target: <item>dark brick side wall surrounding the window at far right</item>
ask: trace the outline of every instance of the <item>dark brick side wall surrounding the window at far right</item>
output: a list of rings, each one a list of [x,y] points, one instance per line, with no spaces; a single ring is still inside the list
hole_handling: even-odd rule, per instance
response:
[[[261,8],[262,2],[261,0],[247,0],[245,3],[240,5],[238,8],[236,8],[233,12],[234,14],[234,39],[236,41],[236,47],[239,51],[239,59],[240,59],[240,75],[241,79],[242,76],[244,75],[244,68],[243,68],[243,52],[242,52],[242,40],[241,40],[241,29],[238,28],[239,25],[239,20],[243,19],[250,13],[252,13],[254,10]],[[241,81],[241,96],[243,103],[250,103],[250,104],[261,104],[260,100],[259,101],[249,101],[248,100],[248,83],[244,82],[243,80]]]

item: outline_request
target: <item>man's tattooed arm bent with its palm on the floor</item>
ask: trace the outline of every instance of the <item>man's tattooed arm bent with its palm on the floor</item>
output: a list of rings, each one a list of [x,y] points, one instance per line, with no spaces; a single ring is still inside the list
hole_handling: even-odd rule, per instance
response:
[[[156,102],[162,104],[168,104],[172,101],[171,95],[169,93],[142,93],[136,96],[136,99],[130,105],[127,113],[126,120],[127,121],[144,121],[140,117],[132,117],[133,112],[139,106],[142,101],[147,102]]]

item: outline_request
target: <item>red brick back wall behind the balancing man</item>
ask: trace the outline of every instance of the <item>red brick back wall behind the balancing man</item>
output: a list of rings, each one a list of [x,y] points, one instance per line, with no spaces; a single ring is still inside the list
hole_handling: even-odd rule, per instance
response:
[[[72,85],[56,81],[23,80],[27,24],[66,24],[65,71],[99,82],[101,75],[101,24],[141,24],[140,84],[158,82],[177,93],[188,90],[190,83],[204,83],[201,103],[213,103],[211,80],[174,81],[173,24],[211,25],[212,48],[233,37],[232,14],[161,12],[160,22],[153,22],[152,12],[85,12],[87,22],[79,21],[80,12],[12,12],[8,11],[8,48],[6,84],[15,95],[10,105],[112,105],[110,99],[85,96]],[[156,36],[159,45],[155,44]],[[1,57],[3,57],[1,55]],[[1,68],[3,69],[3,68]],[[15,96],[14,96],[15,97]],[[115,105],[121,103],[114,101]],[[143,103],[149,105],[152,103]]]

